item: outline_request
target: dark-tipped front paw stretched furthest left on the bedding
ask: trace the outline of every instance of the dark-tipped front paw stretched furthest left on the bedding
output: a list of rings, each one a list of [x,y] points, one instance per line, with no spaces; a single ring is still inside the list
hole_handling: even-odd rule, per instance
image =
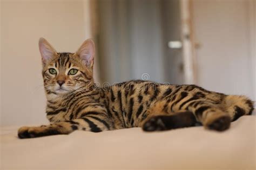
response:
[[[51,127],[48,126],[36,126],[36,127],[28,127],[23,126],[18,130],[18,137],[20,139],[23,138],[36,138],[36,137],[43,137],[46,135],[53,135],[59,134],[58,131],[53,130]]]

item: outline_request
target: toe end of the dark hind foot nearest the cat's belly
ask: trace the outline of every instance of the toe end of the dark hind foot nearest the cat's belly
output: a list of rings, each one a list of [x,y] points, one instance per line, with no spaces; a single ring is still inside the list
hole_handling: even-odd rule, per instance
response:
[[[152,117],[147,120],[142,127],[143,131],[165,131],[166,127],[160,117]]]

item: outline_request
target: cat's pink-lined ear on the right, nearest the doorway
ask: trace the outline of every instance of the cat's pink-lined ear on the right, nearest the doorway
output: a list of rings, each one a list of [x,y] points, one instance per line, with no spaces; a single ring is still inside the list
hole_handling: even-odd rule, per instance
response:
[[[93,66],[95,45],[92,39],[86,39],[76,53],[87,67]]]

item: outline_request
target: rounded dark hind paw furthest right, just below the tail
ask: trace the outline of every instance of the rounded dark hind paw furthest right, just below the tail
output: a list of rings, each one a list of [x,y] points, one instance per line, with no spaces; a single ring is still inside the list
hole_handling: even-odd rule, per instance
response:
[[[212,121],[206,128],[215,131],[225,131],[230,127],[231,118],[228,115],[224,115]]]

